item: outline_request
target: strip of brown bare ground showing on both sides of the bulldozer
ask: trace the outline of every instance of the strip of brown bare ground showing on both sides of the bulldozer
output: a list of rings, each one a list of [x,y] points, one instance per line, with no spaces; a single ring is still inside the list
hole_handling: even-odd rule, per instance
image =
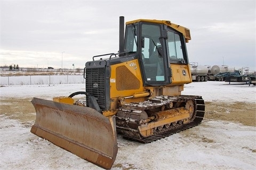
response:
[[[31,98],[0,99],[2,114],[19,120],[21,123],[34,121],[36,118]],[[218,103],[205,102],[205,120],[223,120],[242,123],[247,126],[256,126],[256,105],[254,103]]]

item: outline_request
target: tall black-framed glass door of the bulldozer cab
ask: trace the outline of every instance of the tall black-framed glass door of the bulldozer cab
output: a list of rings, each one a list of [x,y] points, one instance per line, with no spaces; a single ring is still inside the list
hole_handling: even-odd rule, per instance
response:
[[[166,45],[163,40],[161,24],[140,24],[141,70],[145,86],[164,86],[170,84],[169,62],[166,55]]]

